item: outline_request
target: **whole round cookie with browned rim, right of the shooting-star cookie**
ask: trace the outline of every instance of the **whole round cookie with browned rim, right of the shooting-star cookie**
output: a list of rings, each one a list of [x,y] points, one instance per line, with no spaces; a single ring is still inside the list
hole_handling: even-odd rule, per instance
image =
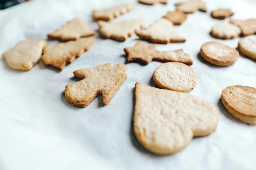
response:
[[[239,52],[220,42],[207,42],[201,47],[200,53],[209,63],[230,66],[239,58]]]

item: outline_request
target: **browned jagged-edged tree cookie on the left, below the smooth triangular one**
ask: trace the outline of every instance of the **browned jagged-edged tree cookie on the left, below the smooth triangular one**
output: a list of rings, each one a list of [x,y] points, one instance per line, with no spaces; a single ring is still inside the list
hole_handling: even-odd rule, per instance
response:
[[[80,57],[89,50],[95,42],[95,38],[80,38],[76,41],[58,43],[56,46],[45,46],[42,61],[45,66],[52,66],[62,70],[66,64],[72,63],[75,58]]]

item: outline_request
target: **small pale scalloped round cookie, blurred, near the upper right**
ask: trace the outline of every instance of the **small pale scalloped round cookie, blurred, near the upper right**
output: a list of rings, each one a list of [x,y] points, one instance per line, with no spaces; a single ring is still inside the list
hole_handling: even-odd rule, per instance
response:
[[[231,23],[217,23],[212,27],[211,35],[218,39],[233,39],[241,34],[241,29]]]

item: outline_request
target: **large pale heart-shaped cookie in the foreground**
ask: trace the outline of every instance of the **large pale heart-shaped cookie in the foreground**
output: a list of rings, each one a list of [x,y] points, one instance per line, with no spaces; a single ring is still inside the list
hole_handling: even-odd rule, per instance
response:
[[[187,93],[135,84],[134,133],[149,151],[170,155],[185,149],[193,137],[217,128],[218,110]]]

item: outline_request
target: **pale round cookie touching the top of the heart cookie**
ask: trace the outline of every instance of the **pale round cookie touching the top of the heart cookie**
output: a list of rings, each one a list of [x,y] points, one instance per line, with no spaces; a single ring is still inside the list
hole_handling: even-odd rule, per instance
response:
[[[155,84],[161,89],[188,93],[196,87],[196,71],[179,62],[163,63],[153,74]]]

